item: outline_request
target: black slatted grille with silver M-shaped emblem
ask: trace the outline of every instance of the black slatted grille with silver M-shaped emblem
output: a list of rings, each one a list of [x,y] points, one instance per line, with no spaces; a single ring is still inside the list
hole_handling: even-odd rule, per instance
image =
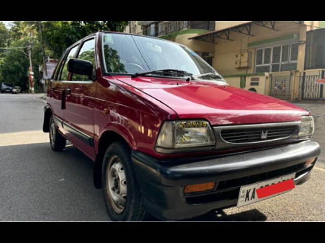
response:
[[[229,143],[251,143],[287,138],[296,134],[297,131],[298,126],[229,129],[222,130],[221,137]]]

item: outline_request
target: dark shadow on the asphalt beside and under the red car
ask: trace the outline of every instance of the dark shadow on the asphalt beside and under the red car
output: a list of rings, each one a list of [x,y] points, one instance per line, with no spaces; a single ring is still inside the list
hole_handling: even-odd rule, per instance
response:
[[[92,184],[93,163],[74,146],[64,152],[53,152],[49,143],[0,146],[0,153],[0,185],[7,194],[0,204],[3,220],[109,221],[102,191]],[[183,221],[266,219],[252,209],[230,215],[212,211]]]

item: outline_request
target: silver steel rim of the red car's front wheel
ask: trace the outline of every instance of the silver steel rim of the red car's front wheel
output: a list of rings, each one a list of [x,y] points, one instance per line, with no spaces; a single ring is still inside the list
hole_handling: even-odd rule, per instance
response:
[[[120,159],[113,155],[106,170],[106,190],[113,210],[121,214],[126,206],[126,176]]]

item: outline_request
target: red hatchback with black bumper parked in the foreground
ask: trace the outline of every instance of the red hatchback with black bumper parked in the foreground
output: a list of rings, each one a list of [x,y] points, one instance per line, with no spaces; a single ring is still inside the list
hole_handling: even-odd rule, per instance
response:
[[[294,104],[232,87],[189,48],[91,34],[52,75],[43,131],[94,161],[112,220],[181,220],[304,183],[320,153]],[[297,189],[299,190],[299,189]]]

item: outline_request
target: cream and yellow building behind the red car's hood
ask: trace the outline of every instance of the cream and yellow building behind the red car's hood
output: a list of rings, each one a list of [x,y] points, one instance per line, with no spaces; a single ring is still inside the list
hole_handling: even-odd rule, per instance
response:
[[[306,78],[303,82],[306,51],[311,52],[310,48],[306,50],[306,45],[308,47],[312,39],[319,38],[309,32],[318,33],[317,29],[325,27],[325,22],[138,21],[137,26],[138,34],[188,46],[223,75],[230,85],[295,100],[305,99],[309,91],[304,96],[304,90],[314,89],[306,87]],[[319,54],[320,50],[324,54]],[[325,67],[325,42],[312,49],[306,62],[306,68]],[[314,70],[314,74],[316,72]],[[320,76],[321,70],[317,73]],[[310,78],[310,82],[314,82]],[[316,86],[319,86],[319,92],[323,92],[322,85]],[[325,94],[314,93],[315,99],[325,97]]]

